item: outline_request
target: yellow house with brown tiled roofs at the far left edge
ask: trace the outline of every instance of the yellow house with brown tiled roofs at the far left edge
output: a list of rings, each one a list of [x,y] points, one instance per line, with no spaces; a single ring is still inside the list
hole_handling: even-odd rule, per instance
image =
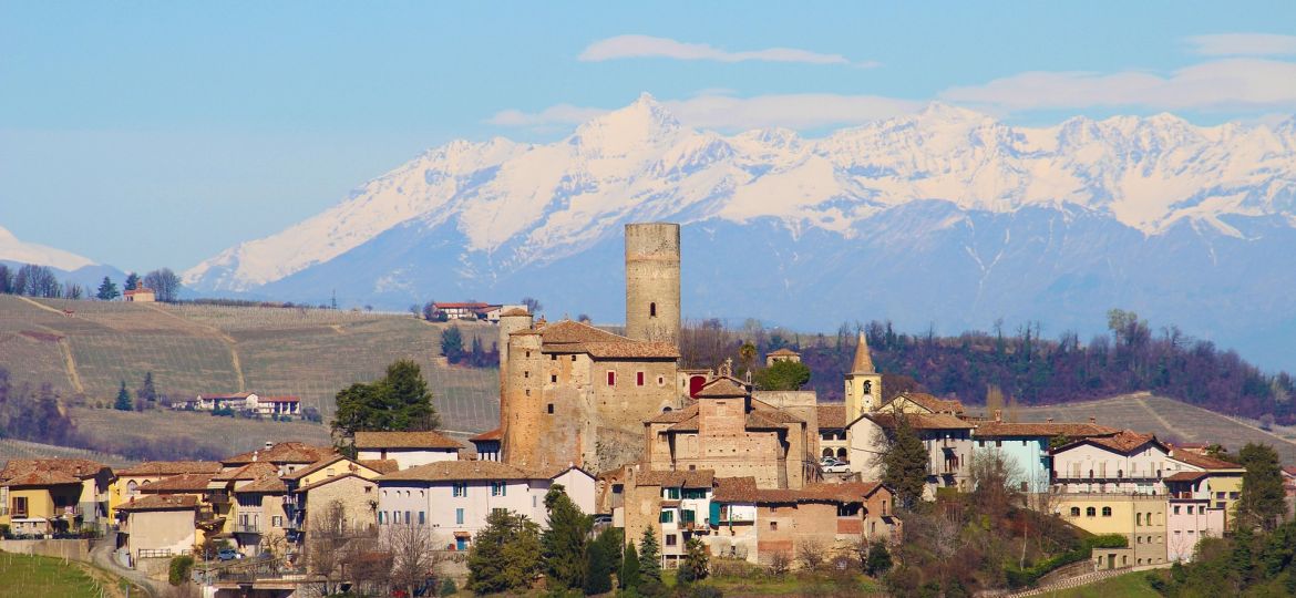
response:
[[[10,460],[0,471],[0,524],[14,535],[101,527],[111,483],[113,470],[95,461]]]

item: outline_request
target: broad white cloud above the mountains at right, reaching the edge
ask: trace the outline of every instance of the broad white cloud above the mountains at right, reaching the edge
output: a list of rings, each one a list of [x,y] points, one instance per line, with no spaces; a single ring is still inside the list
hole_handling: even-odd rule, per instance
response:
[[[1096,106],[1156,110],[1296,107],[1296,62],[1234,58],[1151,72],[1023,72],[941,93],[954,102],[1008,111]]]

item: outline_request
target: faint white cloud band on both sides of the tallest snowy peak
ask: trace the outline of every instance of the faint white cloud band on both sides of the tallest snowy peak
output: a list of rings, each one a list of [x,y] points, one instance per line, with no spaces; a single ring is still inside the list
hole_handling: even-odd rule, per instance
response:
[[[682,124],[695,128],[745,131],[765,127],[810,129],[853,126],[918,111],[920,102],[880,96],[793,93],[756,97],[706,94],[661,102]],[[608,110],[566,104],[539,113],[504,110],[489,123],[505,127],[552,128],[579,124]]]

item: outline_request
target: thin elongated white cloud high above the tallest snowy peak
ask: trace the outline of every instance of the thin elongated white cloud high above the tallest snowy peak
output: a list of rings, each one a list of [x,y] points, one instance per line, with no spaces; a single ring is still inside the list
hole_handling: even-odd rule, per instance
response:
[[[850,65],[841,54],[822,54],[797,48],[766,48],[748,52],[726,52],[709,44],[691,44],[670,38],[651,35],[618,35],[590,44],[581,52],[578,60],[603,62],[619,58],[673,58],[679,61],[715,62],[802,62],[809,65]],[[876,62],[862,62],[854,66],[877,66]]]

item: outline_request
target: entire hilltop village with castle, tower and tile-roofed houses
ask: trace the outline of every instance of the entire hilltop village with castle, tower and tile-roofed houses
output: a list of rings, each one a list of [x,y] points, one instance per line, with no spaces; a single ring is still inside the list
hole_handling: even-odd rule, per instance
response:
[[[630,542],[654,537],[661,568],[697,550],[796,568],[814,564],[797,558],[811,549],[831,560],[905,542],[897,513],[912,507],[906,502],[972,492],[985,479],[976,463],[993,458],[1013,471],[1006,482],[1023,506],[1118,540],[1083,555],[1089,572],[1188,562],[1201,540],[1235,529],[1245,470],[1210,448],[888,395],[863,334],[841,381],[844,403],[759,388],[731,362],[680,368],[679,227],[630,224],[625,243],[623,334],[521,305],[491,315],[499,427],[468,444],[437,431],[359,431],[347,439],[351,454],[284,441],[219,462],[121,470],[13,460],[0,471],[0,528],[14,538],[115,532],[117,567],[165,579],[176,557],[196,554],[211,563],[200,576],[209,595],[283,597],[311,580],[359,582],[365,563],[395,567],[399,555],[382,538],[410,531],[437,554],[425,576],[461,582],[463,555],[492,515],[544,527],[557,489],[599,528],[623,529]],[[290,400],[216,399],[295,409]],[[916,493],[890,482],[888,456],[901,436],[925,456]],[[1296,469],[1284,476],[1290,500]],[[359,555],[350,570],[336,558],[343,541]]]

